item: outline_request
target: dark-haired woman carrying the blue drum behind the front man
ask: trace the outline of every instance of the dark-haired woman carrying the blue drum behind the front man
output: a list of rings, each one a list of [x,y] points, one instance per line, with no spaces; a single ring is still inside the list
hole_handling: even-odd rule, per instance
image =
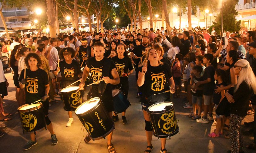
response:
[[[133,73],[133,65],[130,57],[125,52],[126,47],[123,44],[117,45],[117,56],[111,58],[116,64],[116,70],[120,77],[120,83],[117,85],[121,90],[123,90],[124,96],[128,97],[128,90],[129,90],[129,82],[128,82],[128,75]],[[129,72],[128,72],[129,69]],[[118,115],[114,113],[113,121],[118,121]],[[127,124],[127,120],[125,117],[125,112],[122,112],[122,121],[123,124]]]

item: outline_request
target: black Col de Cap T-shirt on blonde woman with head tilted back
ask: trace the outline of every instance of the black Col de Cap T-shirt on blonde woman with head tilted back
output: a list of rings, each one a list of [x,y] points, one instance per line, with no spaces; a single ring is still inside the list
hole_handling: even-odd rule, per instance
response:
[[[142,67],[139,67],[139,71],[142,72]],[[162,93],[170,90],[168,80],[172,77],[170,66],[167,63],[152,67],[150,64],[147,66],[147,72],[145,73],[145,81],[141,86],[142,103],[158,103],[167,100],[170,93],[153,95],[154,93]],[[147,99],[146,99],[147,97]],[[149,102],[151,100],[151,102]]]

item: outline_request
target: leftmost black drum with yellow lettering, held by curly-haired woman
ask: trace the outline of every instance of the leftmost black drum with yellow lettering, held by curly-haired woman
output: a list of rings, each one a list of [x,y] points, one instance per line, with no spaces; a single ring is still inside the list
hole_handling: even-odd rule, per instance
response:
[[[33,132],[46,126],[42,103],[22,105],[18,112],[24,132]]]

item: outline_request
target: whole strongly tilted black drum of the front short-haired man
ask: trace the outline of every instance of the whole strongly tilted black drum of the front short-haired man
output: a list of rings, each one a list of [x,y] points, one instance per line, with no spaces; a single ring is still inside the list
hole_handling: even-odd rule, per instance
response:
[[[75,114],[93,140],[105,138],[115,127],[114,122],[98,98],[92,98],[80,105]]]

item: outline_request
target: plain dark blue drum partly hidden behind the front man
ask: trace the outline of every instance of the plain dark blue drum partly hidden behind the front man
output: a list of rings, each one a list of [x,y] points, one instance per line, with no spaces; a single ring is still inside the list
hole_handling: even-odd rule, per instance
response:
[[[114,112],[116,114],[124,112],[131,105],[120,88],[113,89],[112,96],[114,103]]]

